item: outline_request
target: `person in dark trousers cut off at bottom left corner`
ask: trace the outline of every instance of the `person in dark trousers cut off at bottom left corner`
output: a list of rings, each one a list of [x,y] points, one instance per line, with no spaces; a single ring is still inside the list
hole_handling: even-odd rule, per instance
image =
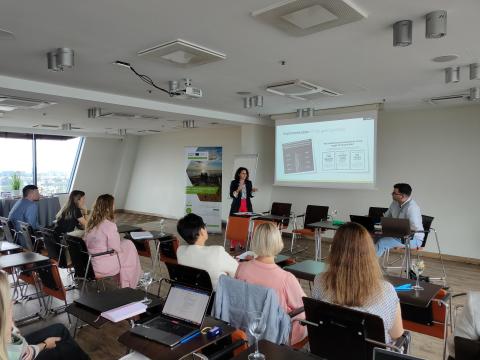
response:
[[[10,284],[7,275],[0,271],[0,359],[89,359],[62,324],[50,325],[23,337],[13,323],[12,308]]]

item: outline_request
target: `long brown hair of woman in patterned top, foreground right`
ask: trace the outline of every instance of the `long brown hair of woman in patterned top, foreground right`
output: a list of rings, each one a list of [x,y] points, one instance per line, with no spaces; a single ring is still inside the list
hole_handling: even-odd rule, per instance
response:
[[[360,224],[346,223],[337,230],[321,276],[332,301],[344,306],[364,306],[379,294],[383,279],[373,240]]]

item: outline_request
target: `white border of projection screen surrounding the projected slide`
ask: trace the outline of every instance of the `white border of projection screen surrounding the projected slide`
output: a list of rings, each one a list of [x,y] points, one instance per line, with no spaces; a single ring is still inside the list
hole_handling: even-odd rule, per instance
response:
[[[298,181],[279,181],[277,179],[277,127],[281,125],[302,125],[308,123],[317,123],[317,122],[328,122],[335,120],[349,120],[349,119],[373,119],[373,182],[362,183],[362,182],[338,182],[338,181],[308,181],[308,182],[298,182]],[[279,119],[275,121],[275,170],[274,170],[274,184],[273,186],[282,186],[282,187],[302,187],[302,188],[322,188],[322,189],[351,189],[351,190],[376,190],[377,183],[377,124],[378,124],[378,110],[377,109],[368,109],[354,112],[342,112],[341,109],[329,109],[325,111],[325,114],[312,116],[312,117],[302,117],[302,118],[291,118],[291,119]]]

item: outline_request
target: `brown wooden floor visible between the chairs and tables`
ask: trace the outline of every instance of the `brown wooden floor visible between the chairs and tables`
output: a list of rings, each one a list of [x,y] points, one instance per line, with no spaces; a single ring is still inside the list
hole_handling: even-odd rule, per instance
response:
[[[118,223],[130,223],[130,224],[140,224],[146,230],[155,230],[158,229],[159,219],[152,216],[143,216],[143,215],[132,215],[132,214],[118,214],[117,222]],[[166,229],[169,232],[176,233],[176,222],[172,220],[166,221]],[[440,242],[441,242],[441,234]],[[313,248],[314,244],[311,240],[299,240],[299,245],[301,247],[307,247],[307,250],[297,254],[297,260],[303,260],[313,257]],[[214,235],[211,234],[207,242],[207,245],[221,244],[223,245],[223,235]],[[285,247],[289,248],[290,239],[285,239]],[[328,243],[323,244],[322,254],[326,255],[328,253]],[[426,275],[437,275],[440,270],[440,263],[438,260],[425,259],[426,262]],[[151,269],[151,260],[147,258],[141,258],[142,268],[144,270]],[[445,263],[447,275],[448,275],[448,285],[450,290],[453,293],[460,293],[465,291],[476,290],[480,291],[480,266],[478,265],[469,265],[458,262],[448,261]],[[158,277],[167,276],[166,268],[163,264],[160,264],[159,268],[156,269]],[[307,295],[310,294],[308,283],[301,281],[302,287],[304,288]],[[109,286],[107,284],[107,286]],[[110,285],[111,286],[111,285]],[[157,285],[152,285],[151,292],[157,292]],[[165,289],[164,289],[165,290]],[[162,291],[164,293],[164,291]],[[69,292],[69,302],[73,298],[78,296],[76,290]],[[454,300],[455,304],[461,304],[464,300],[464,297],[459,297]],[[55,303],[61,305],[60,303]],[[20,318],[27,314],[34,313],[38,310],[38,302],[29,301],[27,304],[17,304],[15,305],[15,318]],[[72,321],[75,319],[73,318]],[[27,334],[30,331],[42,328],[51,323],[61,322],[65,325],[68,325],[68,318],[66,314],[60,314],[58,316],[49,318],[45,321],[35,322],[27,326],[23,326],[21,331]],[[119,357],[126,354],[127,349],[120,345],[117,342],[118,336],[120,336],[124,331],[128,329],[128,324],[126,322],[119,324],[109,324],[105,327],[96,330],[92,327],[84,327],[78,331],[77,341],[80,346],[90,355],[92,359],[118,359]],[[442,341],[439,339],[431,338],[429,336],[421,334],[413,334],[413,344],[411,354],[418,356],[423,359],[428,360],[437,360],[442,358]]]

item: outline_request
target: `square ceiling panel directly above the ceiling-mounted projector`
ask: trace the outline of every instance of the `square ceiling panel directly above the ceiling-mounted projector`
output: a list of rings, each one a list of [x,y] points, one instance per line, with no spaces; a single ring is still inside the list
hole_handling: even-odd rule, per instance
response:
[[[221,52],[182,39],[141,50],[138,52],[138,56],[155,61],[168,62],[180,67],[202,65],[227,58]]]

